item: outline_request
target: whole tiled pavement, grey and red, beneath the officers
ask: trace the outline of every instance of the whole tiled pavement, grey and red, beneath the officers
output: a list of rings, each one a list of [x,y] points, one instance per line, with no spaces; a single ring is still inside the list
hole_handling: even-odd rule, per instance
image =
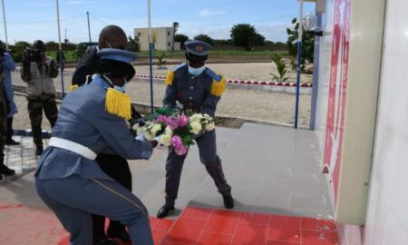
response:
[[[225,211],[192,147],[177,211],[169,217],[177,220],[151,218],[155,244],[338,244],[314,132],[246,123],[239,130],[218,128],[217,135],[236,207]],[[34,190],[31,139],[15,140],[23,141],[23,147],[7,147],[7,164],[21,178],[0,187],[0,243],[68,244],[67,233]],[[166,153],[158,150],[149,161],[130,162],[133,192],[151,216],[164,201]],[[26,156],[23,163],[15,161],[21,156]]]

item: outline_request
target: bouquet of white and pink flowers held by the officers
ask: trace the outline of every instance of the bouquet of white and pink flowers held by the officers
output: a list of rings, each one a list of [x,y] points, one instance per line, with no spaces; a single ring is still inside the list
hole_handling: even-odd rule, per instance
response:
[[[189,145],[204,132],[215,129],[215,123],[208,114],[181,113],[179,110],[159,109],[156,113],[134,122],[131,129],[152,141],[160,135],[160,144],[172,147],[178,155],[185,155]]]

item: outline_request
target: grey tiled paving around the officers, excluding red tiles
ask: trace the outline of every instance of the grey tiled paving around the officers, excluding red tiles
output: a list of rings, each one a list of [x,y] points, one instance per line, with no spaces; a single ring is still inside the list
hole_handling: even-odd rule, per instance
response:
[[[236,211],[274,213],[281,215],[332,218],[325,175],[317,160],[318,147],[314,132],[246,123],[239,129],[219,128],[218,151],[232,194]],[[19,139],[16,139],[19,140]],[[13,146],[7,159],[10,167],[34,168],[34,148],[24,139],[22,147]],[[8,149],[8,148],[7,148]],[[23,150],[23,152],[21,152]],[[166,150],[154,152],[150,161],[131,161],[133,190],[154,215],[164,202]],[[25,163],[27,162],[27,163]],[[21,195],[29,191],[28,196]],[[17,199],[17,200],[14,200]],[[44,207],[34,191],[33,173],[5,184],[0,201]],[[223,209],[222,198],[204,166],[199,163],[197,147],[191,147],[181,176],[176,218],[188,204]]]

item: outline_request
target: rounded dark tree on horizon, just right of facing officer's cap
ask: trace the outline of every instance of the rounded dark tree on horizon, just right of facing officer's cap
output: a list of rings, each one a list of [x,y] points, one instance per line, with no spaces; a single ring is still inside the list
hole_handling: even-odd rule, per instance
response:
[[[249,24],[232,26],[230,36],[234,45],[244,47],[245,50],[252,50],[254,46],[265,43],[265,37],[257,34],[255,26]]]

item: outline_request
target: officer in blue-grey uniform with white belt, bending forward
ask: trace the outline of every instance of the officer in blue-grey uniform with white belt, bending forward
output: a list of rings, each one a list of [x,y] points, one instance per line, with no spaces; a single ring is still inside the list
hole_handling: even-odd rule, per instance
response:
[[[131,62],[136,55],[119,49],[98,54],[101,60],[92,83],[63,100],[53,137],[35,172],[36,189],[71,233],[71,244],[92,244],[91,213],[126,225],[132,244],[153,244],[143,203],[94,161],[102,152],[149,159],[157,145],[134,139],[126,123],[131,100],[123,85],[135,73]]]

